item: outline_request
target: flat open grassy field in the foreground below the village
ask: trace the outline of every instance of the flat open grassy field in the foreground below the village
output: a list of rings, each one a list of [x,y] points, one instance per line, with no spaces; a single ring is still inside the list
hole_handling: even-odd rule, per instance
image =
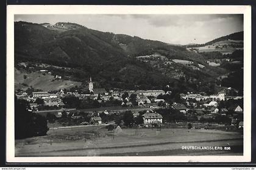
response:
[[[15,140],[15,155],[242,155],[243,135],[204,129],[123,129],[115,134],[101,126],[50,129],[48,136]],[[182,150],[182,146],[229,146],[222,150]]]

